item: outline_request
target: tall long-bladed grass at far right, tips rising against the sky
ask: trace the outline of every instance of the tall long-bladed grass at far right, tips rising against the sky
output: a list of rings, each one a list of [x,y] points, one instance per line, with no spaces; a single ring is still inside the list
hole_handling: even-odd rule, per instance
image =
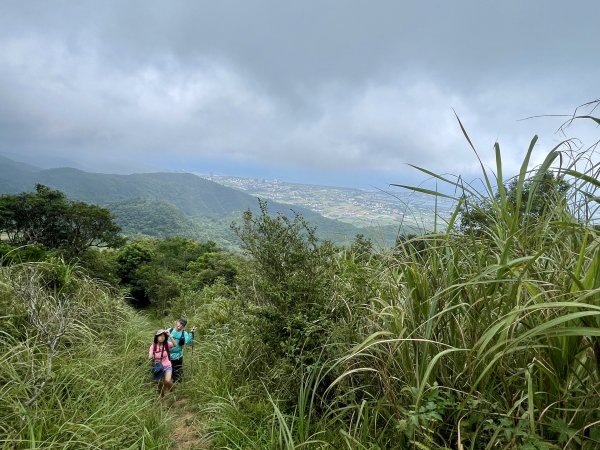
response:
[[[574,170],[582,156],[557,147],[530,171],[536,140],[514,180],[516,203],[507,198],[498,145],[495,174],[482,165],[483,193],[433,174],[462,189],[458,208],[474,197],[486,205],[486,226],[462,235],[451,221],[444,233],[418,238],[426,244],[419,253],[391,259],[382,269],[397,291],[382,286],[372,299],[371,334],[338,361],[347,368],[336,383],[370,375],[360,389],[373,398],[367,405],[381,414],[379,422],[397,424],[396,442],[600,445],[600,236],[590,214],[598,166]],[[534,196],[522,204],[521,193],[526,183],[530,192],[542,189],[549,170],[568,177],[569,191],[532,217]],[[364,408],[355,404],[341,422]],[[380,441],[386,434],[358,441],[387,445]]]

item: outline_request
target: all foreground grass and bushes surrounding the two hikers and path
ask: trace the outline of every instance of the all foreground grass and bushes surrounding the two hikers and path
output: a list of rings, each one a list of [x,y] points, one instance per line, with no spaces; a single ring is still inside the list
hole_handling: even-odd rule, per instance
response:
[[[34,247],[43,262],[5,262],[3,446],[169,448],[151,324],[120,289],[197,326],[176,392],[213,448],[598,448],[599,168],[557,147],[530,170],[535,144],[510,180],[496,145],[483,192],[420,169],[459,189],[456,210],[387,252],[259,202],[233,226],[243,256],[171,237],[81,268]]]

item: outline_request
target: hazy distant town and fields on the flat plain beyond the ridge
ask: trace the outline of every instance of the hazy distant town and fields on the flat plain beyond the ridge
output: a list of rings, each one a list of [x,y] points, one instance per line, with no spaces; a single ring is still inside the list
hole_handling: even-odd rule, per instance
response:
[[[433,196],[390,187],[387,191],[362,190],[287,183],[222,175],[201,175],[216,183],[267,200],[301,205],[355,226],[400,225],[432,230],[435,222]],[[452,205],[438,199],[438,224],[449,217]],[[442,225],[443,226],[443,225]]]

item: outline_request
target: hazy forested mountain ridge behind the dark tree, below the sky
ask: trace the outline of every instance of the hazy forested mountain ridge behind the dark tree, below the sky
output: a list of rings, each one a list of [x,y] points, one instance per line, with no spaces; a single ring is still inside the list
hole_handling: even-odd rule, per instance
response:
[[[109,208],[127,234],[165,237],[172,230],[172,235],[227,245],[235,240],[229,229],[232,219],[240,219],[248,209],[258,211],[257,197],[189,173],[114,175],[73,168],[39,169],[0,156],[0,193],[31,191],[38,183],[73,200]],[[270,201],[269,211],[287,216],[300,213],[317,227],[321,238],[338,243],[363,233],[302,206]]]

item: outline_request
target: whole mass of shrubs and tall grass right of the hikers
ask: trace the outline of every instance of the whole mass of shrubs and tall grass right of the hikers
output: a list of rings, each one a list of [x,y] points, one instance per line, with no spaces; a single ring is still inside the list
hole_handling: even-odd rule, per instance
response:
[[[320,254],[301,218],[247,214],[237,296],[195,311],[218,324],[194,377],[215,444],[597,448],[598,166],[553,149],[530,172],[534,144],[507,187],[496,146],[485,191],[464,186],[444,232],[390,254]],[[467,198],[490,220],[465,233]]]

